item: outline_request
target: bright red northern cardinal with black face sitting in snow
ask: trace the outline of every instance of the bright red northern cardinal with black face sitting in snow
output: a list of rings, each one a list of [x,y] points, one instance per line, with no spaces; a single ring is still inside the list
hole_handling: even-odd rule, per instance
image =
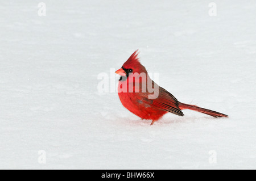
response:
[[[130,112],[141,117],[142,120],[152,120],[151,125],[167,112],[184,116],[181,110],[185,109],[198,111],[213,117],[228,117],[228,115],[224,115],[220,112],[179,102],[170,92],[159,87],[150,79],[147,70],[139,62],[138,50],[135,51],[125,64],[123,64],[122,68],[115,71],[115,73],[121,75],[118,84],[118,95],[123,106]],[[141,74],[144,75],[146,79],[143,79],[143,76],[139,77]],[[143,86],[146,87],[144,91],[142,90]],[[158,89],[156,89],[157,96],[155,98],[154,96],[150,98],[152,91],[148,91],[149,86],[153,88],[158,87]]]

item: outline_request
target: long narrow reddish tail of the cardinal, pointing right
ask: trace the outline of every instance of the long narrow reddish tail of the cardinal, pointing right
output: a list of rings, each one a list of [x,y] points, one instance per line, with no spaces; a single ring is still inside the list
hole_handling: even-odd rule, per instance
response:
[[[189,105],[189,104],[184,104],[184,103],[179,103],[179,108],[181,110],[193,110],[201,113],[205,113],[207,115],[213,116],[213,117],[229,117],[228,115],[224,115],[223,113],[212,111],[212,110],[207,110],[205,108],[201,108],[195,105]]]

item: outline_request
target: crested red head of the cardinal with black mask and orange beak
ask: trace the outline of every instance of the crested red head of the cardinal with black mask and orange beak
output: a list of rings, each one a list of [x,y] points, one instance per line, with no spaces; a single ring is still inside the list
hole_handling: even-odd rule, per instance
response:
[[[138,58],[138,50],[136,50],[130,58],[123,64],[122,68],[115,71],[115,73],[121,75],[120,81],[122,81],[124,78],[128,78],[130,73],[146,73],[146,68],[139,62]]]

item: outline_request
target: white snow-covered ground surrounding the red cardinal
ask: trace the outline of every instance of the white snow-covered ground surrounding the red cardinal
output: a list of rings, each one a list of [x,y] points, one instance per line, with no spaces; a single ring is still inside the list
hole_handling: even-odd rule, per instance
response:
[[[0,169],[256,169],[255,9],[255,0],[1,0]],[[136,49],[180,102],[230,117],[184,110],[150,126],[117,93],[100,94],[98,74]]]

